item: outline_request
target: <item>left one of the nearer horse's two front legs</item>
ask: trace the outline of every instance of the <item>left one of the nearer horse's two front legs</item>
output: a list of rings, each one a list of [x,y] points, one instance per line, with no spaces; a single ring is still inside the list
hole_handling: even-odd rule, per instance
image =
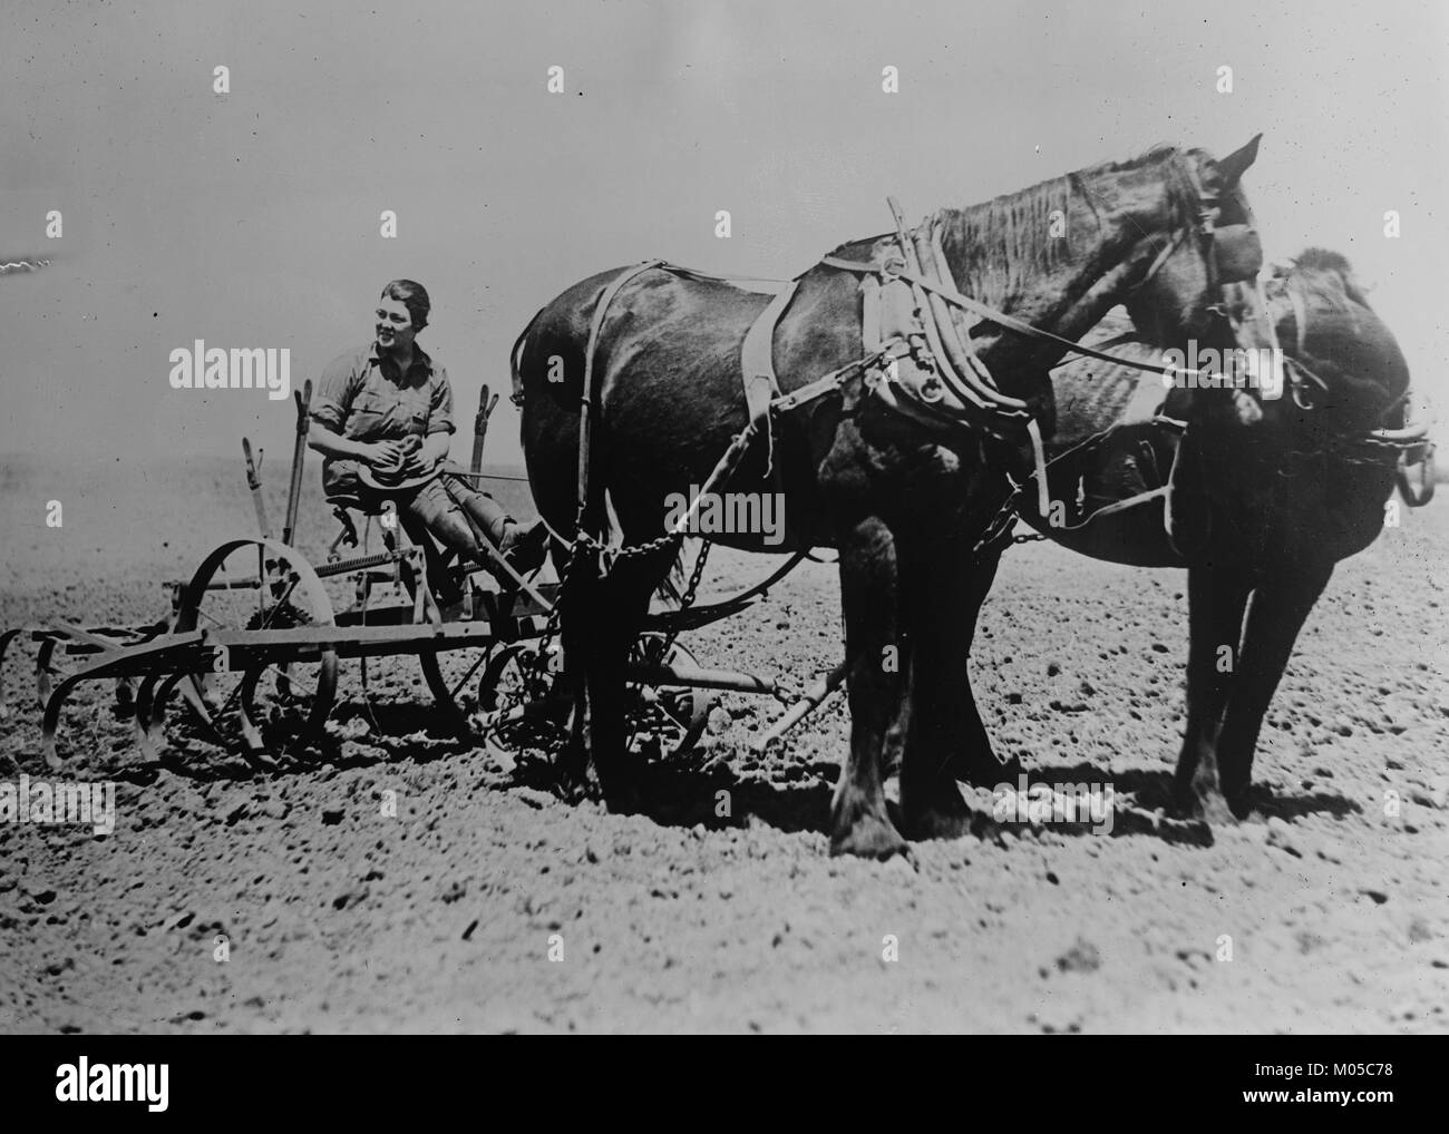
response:
[[[880,518],[862,520],[840,540],[840,604],[851,755],[830,805],[830,853],[888,859],[904,853],[906,840],[885,811],[881,768],[893,728],[894,743],[903,740],[901,671],[910,658],[897,633],[895,540]]]

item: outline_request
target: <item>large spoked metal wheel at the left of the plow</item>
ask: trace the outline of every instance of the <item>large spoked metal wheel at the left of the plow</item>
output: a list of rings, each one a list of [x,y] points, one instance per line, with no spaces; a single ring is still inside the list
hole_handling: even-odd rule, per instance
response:
[[[274,540],[242,539],[223,543],[197,568],[172,629],[267,631],[332,623],[332,602],[306,558]],[[233,668],[229,652],[217,646],[210,660],[209,672],[184,673],[175,684],[204,740],[283,756],[322,736],[338,684],[335,650],[297,647],[285,658]],[[164,705],[161,695],[149,707],[152,726]]]

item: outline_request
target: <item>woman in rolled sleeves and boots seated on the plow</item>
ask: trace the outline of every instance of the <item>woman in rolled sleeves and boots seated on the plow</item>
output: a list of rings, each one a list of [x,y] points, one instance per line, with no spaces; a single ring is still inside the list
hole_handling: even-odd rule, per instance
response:
[[[543,521],[516,523],[456,475],[461,469],[443,463],[454,432],[452,387],[416,342],[430,308],[422,284],[394,280],[377,306],[375,340],[338,355],[322,372],[307,443],[326,458],[323,492],[333,504],[367,511],[391,498],[404,524],[420,524],[464,559],[491,569],[477,524],[509,565],[526,574],[543,562]],[[440,598],[455,605],[461,597]]]

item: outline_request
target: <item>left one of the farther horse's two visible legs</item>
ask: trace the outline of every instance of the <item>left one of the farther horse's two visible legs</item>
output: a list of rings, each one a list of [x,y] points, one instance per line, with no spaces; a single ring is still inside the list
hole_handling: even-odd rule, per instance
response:
[[[1219,784],[1217,733],[1235,681],[1243,608],[1250,589],[1246,575],[1227,568],[1193,566],[1187,574],[1187,728],[1172,791],[1178,808],[1188,815],[1227,817]],[[1222,666],[1223,646],[1232,650],[1226,669]]]

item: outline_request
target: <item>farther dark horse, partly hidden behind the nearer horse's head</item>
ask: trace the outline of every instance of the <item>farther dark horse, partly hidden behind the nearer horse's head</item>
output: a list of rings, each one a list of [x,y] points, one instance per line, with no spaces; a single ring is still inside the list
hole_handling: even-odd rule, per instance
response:
[[[1311,378],[1264,400],[1264,417],[1252,429],[1195,414],[1203,392],[1166,392],[1161,413],[1188,421],[1172,537],[1161,501],[1081,524],[1053,527],[1040,516],[1026,517],[1058,543],[1098,559],[1188,568],[1188,718],[1174,795],[1182,812],[1216,820],[1249,810],[1264,714],[1333,566],[1384,527],[1397,450],[1365,442],[1365,434],[1404,424],[1408,390],[1398,343],[1343,256],[1307,249],[1266,281],[1266,294],[1290,371],[1297,362]],[[1087,342],[1094,339],[1123,358],[1162,356],[1117,313]],[[1095,488],[1098,500],[1082,501],[1091,513],[1166,479],[1177,434],[1135,411],[1143,394],[1148,406],[1164,403],[1155,379],[1071,359],[1052,381],[1059,429],[1049,452],[1065,453],[1061,472],[1052,466],[1053,494],[1071,495],[1075,484],[1087,497]],[[1091,453],[1084,439],[1114,424],[1116,440]],[[994,566],[982,568],[977,587],[990,585]],[[978,742],[984,736],[981,730]]]

